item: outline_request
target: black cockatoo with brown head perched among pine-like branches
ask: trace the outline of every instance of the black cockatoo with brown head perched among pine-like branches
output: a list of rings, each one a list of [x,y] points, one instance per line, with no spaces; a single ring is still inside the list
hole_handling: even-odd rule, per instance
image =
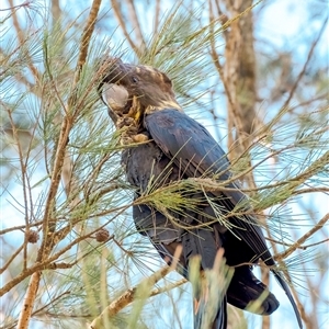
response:
[[[186,279],[195,257],[201,272],[211,270],[218,250],[224,249],[234,274],[207,328],[227,328],[227,303],[259,315],[277,309],[276,297],[252,272],[259,261],[274,274],[303,328],[290,286],[266,246],[248,197],[240,183],[231,180],[227,155],[203,125],[183,112],[171,79],[157,68],[127,64],[118,57],[102,60],[101,72],[98,92],[122,132],[122,164],[135,188],[136,201],[189,179],[225,184],[223,189],[182,191],[190,198],[185,207],[163,207],[147,202],[147,197],[133,206],[137,230],[150,239],[162,259],[170,264],[178,246],[182,248],[179,265]],[[241,204],[246,212],[238,215],[235,207]],[[205,303],[197,294],[195,298],[196,305]],[[256,300],[261,300],[259,307],[249,309]],[[201,308],[194,308],[194,329],[204,328]]]

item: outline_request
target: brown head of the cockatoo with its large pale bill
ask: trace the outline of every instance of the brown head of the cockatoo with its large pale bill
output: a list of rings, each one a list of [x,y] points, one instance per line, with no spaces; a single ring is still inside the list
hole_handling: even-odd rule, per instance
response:
[[[104,67],[100,92],[114,123],[123,116],[139,122],[144,114],[163,109],[181,111],[171,80],[158,69],[118,58],[106,59]]]

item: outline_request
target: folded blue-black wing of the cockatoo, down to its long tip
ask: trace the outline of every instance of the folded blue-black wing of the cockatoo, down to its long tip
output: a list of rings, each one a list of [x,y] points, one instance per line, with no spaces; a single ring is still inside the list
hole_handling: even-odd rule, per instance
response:
[[[184,113],[171,109],[158,111],[146,115],[145,126],[159,148],[178,167],[182,168],[188,177],[218,174],[217,180],[219,181],[226,181],[230,177],[228,170],[230,163],[222,147],[201,124]],[[223,191],[215,196],[218,196],[217,203],[230,212],[235,205],[246,200],[246,196],[236,184],[230,183],[227,186],[235,190]],[[256,256],[269,266],[274,266],[275,262],[257,220],[249,215],[239,218],[230,217],[229,220],[234,224],[232,232],[245,241]],[[272,268],[272,272],[291,300],[302,328],[300,316],[286,282],[275,269]]]

